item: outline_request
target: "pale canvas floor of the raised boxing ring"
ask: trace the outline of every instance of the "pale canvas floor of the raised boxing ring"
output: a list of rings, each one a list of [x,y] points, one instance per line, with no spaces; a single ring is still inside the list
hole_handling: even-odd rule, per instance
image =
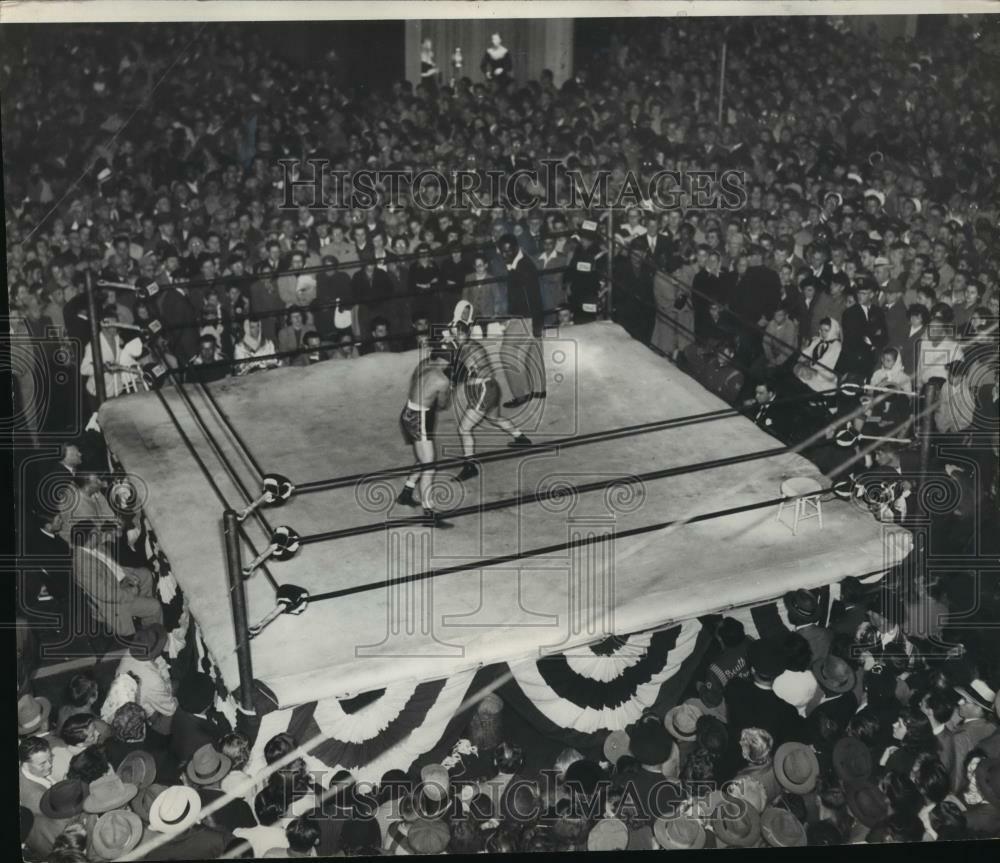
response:
[[[239,627],[221,499],[243,509],[263,474],[295,491],[240,524],[242,563],[279,526],[301,545],[243,583],[247,617],[266,618],[278,585],[310,597],[250,642],[254,678],[289,709],[493,663],[586,659],[610,635],[882,572],[908,553],[908,533],[887,535],[832,495],[822,528],[793,535],[775,519],[782,481],[825,479],[617,325],[546,334],[543,353],[547,398],[505,411],[535,446],[507,450],[502,433],[480,426],[480,475],[456,482],[457,460],[438,472],[448,530],[395,504],[413,460],[397,417],[415,351],[101,407],[108,445],[148,490],[144,511],[231,691]],[[460,454],[445,412],[438,458]]]

